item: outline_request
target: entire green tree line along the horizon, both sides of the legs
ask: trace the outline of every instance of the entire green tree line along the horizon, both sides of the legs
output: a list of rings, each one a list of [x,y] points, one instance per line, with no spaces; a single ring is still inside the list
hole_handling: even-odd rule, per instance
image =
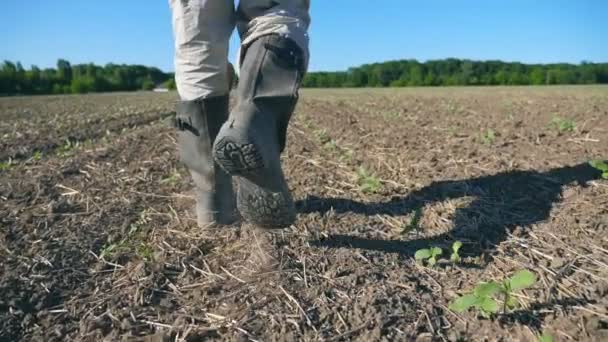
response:
[[[347,71],[310,72],[303,87],[407,87],[455,85],[608,84],[608,63],[523,64],[455,58],[365,64]],[[91,92],[175,89],[172,73],[143,65],[92,63],[26,70],[21,63],[0,66],[0,95],[82,94]]]

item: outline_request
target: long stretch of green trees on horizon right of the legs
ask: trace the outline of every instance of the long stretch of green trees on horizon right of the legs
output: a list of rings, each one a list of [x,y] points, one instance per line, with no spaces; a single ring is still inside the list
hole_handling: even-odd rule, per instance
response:
[[[407,87],[608,83],[608,63],[523,64],[443,59],[365,64],[339,72],[311,72],[304,87]]]

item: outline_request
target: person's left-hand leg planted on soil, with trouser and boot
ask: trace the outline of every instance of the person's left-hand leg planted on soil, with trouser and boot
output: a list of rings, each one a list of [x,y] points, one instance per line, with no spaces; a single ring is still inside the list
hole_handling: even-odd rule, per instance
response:
[[[180,96],[175,119],[180,159],[194,180],[199,226],[229,224],[237,217],[232,180],[214,163],[211,147],[228,118],[234,2],[170,0],[170,5]]]

